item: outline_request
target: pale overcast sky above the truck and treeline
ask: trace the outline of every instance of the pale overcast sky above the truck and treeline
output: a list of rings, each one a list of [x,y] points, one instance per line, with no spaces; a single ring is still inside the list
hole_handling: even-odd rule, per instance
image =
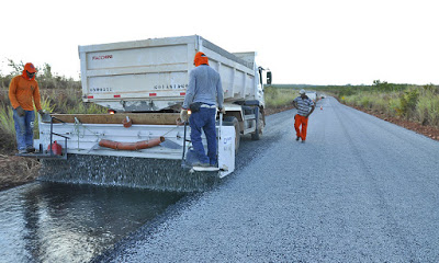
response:
[[[0,62],[79,78],[78,45],[201,35],[273,83],[439,84],[437,0],[1,1]]]

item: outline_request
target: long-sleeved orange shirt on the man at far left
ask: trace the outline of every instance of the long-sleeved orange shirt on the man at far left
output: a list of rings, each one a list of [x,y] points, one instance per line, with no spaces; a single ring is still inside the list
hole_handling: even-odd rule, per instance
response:
[[[33,111],[35,103],[36,111],[42,110],[38,82],[23,75],[14,77],[9,84],[9,100],[13,108],[21,106],[25,111]]]

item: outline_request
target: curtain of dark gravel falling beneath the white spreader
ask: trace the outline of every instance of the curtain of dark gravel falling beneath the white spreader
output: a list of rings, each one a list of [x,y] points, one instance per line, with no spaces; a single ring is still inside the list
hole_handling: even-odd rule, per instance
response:
[[[43,160],[41,181],[199,192],[215,185],[216,173],[191,173],[181,160],[69,155],[68,161]]]

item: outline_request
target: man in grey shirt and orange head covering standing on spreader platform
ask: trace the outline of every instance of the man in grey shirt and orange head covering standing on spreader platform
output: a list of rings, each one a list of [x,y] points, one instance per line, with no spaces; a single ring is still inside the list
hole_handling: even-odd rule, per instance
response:
[[[180,113],[183,122],[188,121],[188,108],[192,114],[189,117],[191,141],[200,163],[193,165],[216,167],[216,106],[224,113],[224,94],[219,73],[209,66],[209,58],[201,52],[194,57],[195,68],[189,75],[189,87]],[[216,105],[217,103],[217,105]],[[207,140],[207,156],[201,141],[201,129]]]

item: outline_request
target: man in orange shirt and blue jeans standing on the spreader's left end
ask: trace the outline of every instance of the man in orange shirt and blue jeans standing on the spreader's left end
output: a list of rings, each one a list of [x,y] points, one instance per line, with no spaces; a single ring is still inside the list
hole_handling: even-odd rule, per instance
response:
[[[19,153],[34,152],[34,103],[43,116],[36,69],[33,64],[24,65],[23,73],[14,77],[9,84],[9,100],[13,107],[13,119]]]

